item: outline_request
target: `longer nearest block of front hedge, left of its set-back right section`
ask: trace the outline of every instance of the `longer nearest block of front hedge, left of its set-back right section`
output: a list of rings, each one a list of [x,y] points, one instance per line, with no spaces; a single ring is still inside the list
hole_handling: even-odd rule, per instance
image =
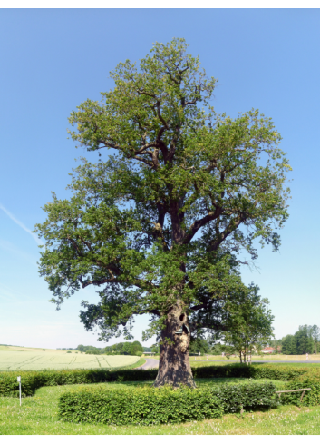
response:
[[[61,419],[107,424],[167,424],[222,416],[219,400],[208,390],[149,387],[69,391],[59,402]]]

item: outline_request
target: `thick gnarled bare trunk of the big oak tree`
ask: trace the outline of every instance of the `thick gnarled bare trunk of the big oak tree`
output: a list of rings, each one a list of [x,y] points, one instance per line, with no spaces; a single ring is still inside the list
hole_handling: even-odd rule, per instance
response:
[[[181,384],[196,387],[189,363],[190,335],[187,322],[187,315],[181,313],[179,307],[170,311],[166,326],[161,332],[160,362],[155,387],[179,387]],[[179,329],[182,329],[182,334],[176,333]]]

